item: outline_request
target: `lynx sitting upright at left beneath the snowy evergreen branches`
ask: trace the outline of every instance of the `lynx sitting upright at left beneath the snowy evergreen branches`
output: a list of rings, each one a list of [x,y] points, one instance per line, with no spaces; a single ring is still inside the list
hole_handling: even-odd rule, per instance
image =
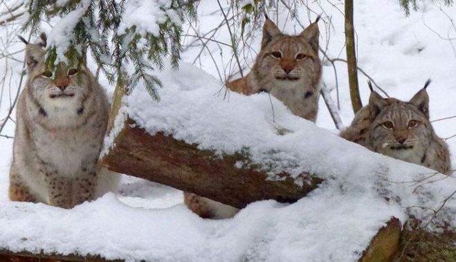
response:
[[[17,105],[10,200],[71,208],[95,197],[109,102],[84,64],[44,64],[46,36],[26,44],[28,80]]]

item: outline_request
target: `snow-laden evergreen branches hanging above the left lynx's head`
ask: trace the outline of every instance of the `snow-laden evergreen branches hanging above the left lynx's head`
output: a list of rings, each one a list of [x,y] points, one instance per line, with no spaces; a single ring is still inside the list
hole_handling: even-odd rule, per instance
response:
[[[156,88],[161,82],[151,71],[163,68],[165,56],[177,66],[181,25],[185,15],[194,17],[194,2],[29,0],[24,30],[38,33],[43,21],[60,19],[48,35],[46,66],[50,70],[62,61],[79,64],[91,53],[97,73],[101,71],[127,90],[142,80],[158,99]],[[127,66],[133,70],[128,72]]]

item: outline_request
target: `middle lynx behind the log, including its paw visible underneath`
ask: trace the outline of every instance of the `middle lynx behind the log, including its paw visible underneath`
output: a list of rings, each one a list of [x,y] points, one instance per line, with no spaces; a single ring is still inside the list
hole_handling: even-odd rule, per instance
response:
[[[266,91],[295,115],[315,122],[322,74],[318,57],[319,19],[300,35],[285,35],[266,17],[261,50],[252,71],[226,83],[226,87],[244,95]],[[204,218],[229,218],[238,211],[235,207],[186,192],[184,203]]]

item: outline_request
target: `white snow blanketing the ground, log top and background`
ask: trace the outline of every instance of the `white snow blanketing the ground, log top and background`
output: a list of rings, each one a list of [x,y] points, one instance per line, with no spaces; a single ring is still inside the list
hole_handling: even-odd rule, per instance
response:
[[[214,2],[203,1],[200,6],[201,31],[209,30],[220,21],[219,14],[212,14],[217,9]],[[334,28],[327,53],[337,57],[344,41],[343,17],[338,11],[338,8],[343,10],[343,6],[340,1],[334,1],[336,6],[321,1],[320,8],[318,3],[311,4],[311,8],[324,13],[323,19],[331,16]],[[433,82],[428,88],[431,119],[456,115],[453,107],[456,54],[451,41],[441,39],[456,37],[455,29],[443,13],[456,19],[456,7],[444,7],[442,12],[436,5],[425,1],[425,8],[412,12],[410,17],[405,17],[394,0],[356,1],[355,7],[359,66],[388,94],[403,100],[408,100],[431,77]],[[307,21],[307,11],[298,14],[302,21]],[[286,15],[280,17],[284,19]],[[314,17],[311,15],[311,19]],[[279,25],[289,33],[301,30],[294,27],[293,21]],[[325,26],[320,24],[320,28],[325,34]],[[0,27],[0,36],[2,41],[15,39],[4,27]],[[229,42],[229,36],[223,32],[215,37]],[[259,39],[253,46],[258,48]],[[215,53],[221,53],[218,46],[209,47]],[[9,51],[21,48],[21,44],[15,44]],[[224,57],[229,57],[230,50],[222,49]],[[198,51],[197,48],[188,50],[183,54],[183,60],[192,62]],[[21,53],[15,55],[17,59],[22,56]],[[224,61],[221,57],[215,58],[219,65]],[[246,64],[251,61],[247,59]],[[0,174],[3,174],[0,176],[0,247],[16,251],[45,248],[48,252],[64,254],[93,252],[109,259],[148,261],[356,261],[370,238],[390,216],[402,221],[406,212],[426,216],[429,213],[408,207],[439,207],[456,189],[453,177],[435,183],[403,183],[419,180],[429,171],[339,140],[333,135],[336,130],[322,101],[317,126],[329,131],[294,117],[277,100],[273,100],[273,124],[266,95],[230,94],[229,100],[224,100],[223,93],[218,93],[221,84],[215,78],[218,73],[210,55],[203,53],[197,65],[213,77],[184,63],[178,73],[161,73],[165,83],[161,104],[151,102],[140,88],[131,97],[139,108],[147,104],[153,111],[140,111],[131,106],[133,103],[126,110],[150,132],[169,131],[177,138],[198,142],[206,149],[230,152],[248,146],[258,162],[267,164],[267,160],[273,158],[281,164],[291,165],[293,169],[288,171],[293,174],[299,171],[327,174],[327,183],[293,205],[275,201],[253,203],[235,218],[224,221],[203,220],[189,212],[182,204],[181,191],[126,176],[116,194],[107,194],[72,210],[11,203],[7,189],[12,139],[0,138]],[[353,113],[346,68],[341,62],[336,66],[340,115],[348,125]],[[0,58],[0,72],[10,68],[12,72],[8,71],[7,75],[12,74],[12,88],[8,90],[8,77],[1,98],[0,119],[6,115],[10,102],[8,92],[15,93],[21,71],[19,62]],[[112,87],[103,79],[101,81],[111,93]],[[329,64],[324,68],[324,81],[331,88],[335,86],[334,72]],[[360,77],[361,96],[366,102],[369,92],[367,87],[363,88],[365,82],[365,77]],[[336,100],[336,91],[331,95]],[[172,113],[166,113],[170,111]],[[189,112],[194,112],[190,114],[192,118],[185,118],[183,113],[188,115]],[[456,119],[434,124],[441,137],[456,133]],[[277,127],[285,127],[292,133],[279,136],[275,133]],[[233,135],[247,131],[252,132],[249,139],[246,135]],[[13,134],[14,125],[8,122],[2,135]],[[455,152],[456,138],[447,142]],[[285,153],[271,156],[268,153],[271,148]],[[454,153],[452,160],[456,162]],[[430,180],[439,178],[444,177],[435,176]],[[423,186],[413,191],[418,185]],[[450,200],[447,207],[442,219],[450,219],[454,226],[455,200]]]

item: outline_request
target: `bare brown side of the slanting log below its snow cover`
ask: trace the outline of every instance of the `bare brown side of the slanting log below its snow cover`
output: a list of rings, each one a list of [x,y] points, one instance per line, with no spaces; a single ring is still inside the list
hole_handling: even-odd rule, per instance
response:
[[[299,180],[309,181],[302,185],[288,174],[280,174],[280,181],[268,180],[266,173],[255,167],[235,167],[238,161],[248,161],[241,153],[220,158],[215,152],[199,150],[197,144],[185,144],[163,133],[149,135],[131,119],[125,122],[113,144],[102,158],[108,169],[238,208],[265,199],[294,202],[322,181],[309,174],[298,176]]]

